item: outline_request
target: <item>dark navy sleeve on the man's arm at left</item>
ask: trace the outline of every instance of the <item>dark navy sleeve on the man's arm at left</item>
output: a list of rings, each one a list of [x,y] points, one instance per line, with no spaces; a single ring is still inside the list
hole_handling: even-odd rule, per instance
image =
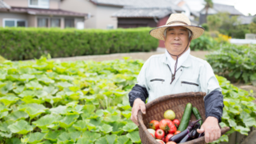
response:
[[[146,103],[146,98],[148,98],[148,97],[149,97],[149,94],[148,94],[146,88],[136,84],[129,93],[130,106],[131,107],[134,106],[134,101],[136,98],[140,98],[140,99],[142,99],[143,102]]]

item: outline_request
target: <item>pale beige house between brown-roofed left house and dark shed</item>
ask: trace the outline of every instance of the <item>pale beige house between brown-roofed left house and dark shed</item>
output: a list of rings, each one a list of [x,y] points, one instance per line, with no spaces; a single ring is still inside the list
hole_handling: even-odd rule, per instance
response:
[[[118,19],[111,15],[124,6],[130,6],[137,0],[63,0],[60,4],[62,10],[71,10],[88,14],[86,28],[116,29]]]

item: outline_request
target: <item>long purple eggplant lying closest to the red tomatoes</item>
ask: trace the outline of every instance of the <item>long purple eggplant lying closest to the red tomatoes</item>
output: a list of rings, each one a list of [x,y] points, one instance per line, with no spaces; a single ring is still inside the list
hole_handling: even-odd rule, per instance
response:
[[[172,142],[181,142],[183,138],[186,137],[187,134],[190,133],[190,130],[193,129],[194,125],[200,121],[201,119],[198,119],[197,121],[194,121],[194,122],[190,122],[189,126],[187,126],[186,130],[183,130],[182,132],[180,132],[179,134],[176,134],[174,136],[172,136],[171,138],[169,138],[169,141],[172,141]]]

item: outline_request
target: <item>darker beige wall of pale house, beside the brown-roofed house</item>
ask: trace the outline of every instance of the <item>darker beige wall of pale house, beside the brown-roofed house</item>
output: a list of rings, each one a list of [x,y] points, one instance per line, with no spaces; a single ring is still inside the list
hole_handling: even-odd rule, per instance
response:
[[[87,0],[65,0],[61,2],[60,9],[93,15],[93,17],[86,19],[85,28],[96,28],[95,15],[97,6],[95,6],[92,2]]]

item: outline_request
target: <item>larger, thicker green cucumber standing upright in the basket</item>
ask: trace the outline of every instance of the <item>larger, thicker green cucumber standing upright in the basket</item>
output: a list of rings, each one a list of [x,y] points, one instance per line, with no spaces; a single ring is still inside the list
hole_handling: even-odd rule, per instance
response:
[[[182,115],[182,121],[178,126],[179,131],[186,130],[187,126],[189,126],[191,112],[192,112],[192,104],[187,103],[186,107],[185,107],[185,110],[184,110],[184,113]]]

